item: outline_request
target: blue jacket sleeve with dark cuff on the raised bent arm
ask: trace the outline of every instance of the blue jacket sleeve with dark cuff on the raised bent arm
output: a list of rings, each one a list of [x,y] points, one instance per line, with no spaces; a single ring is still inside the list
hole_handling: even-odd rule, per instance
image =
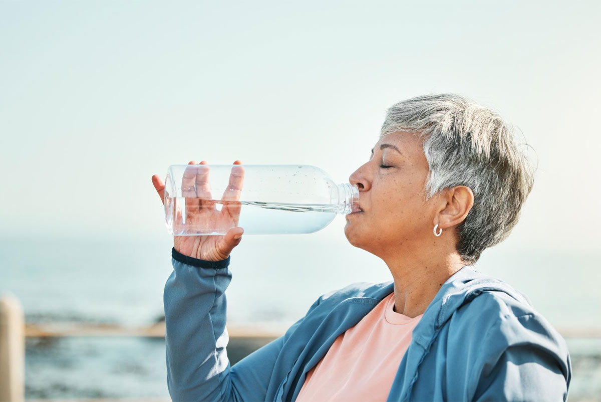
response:
[[[174,270],[165,284],[163,297],[167,386],[171,399],[265,400],[284,339],[304,318],[294,323],[284,336],[232,367],[227,357],[229,338],[225,328],[230,258],[209,262],[182,256],[175,250],[172,255]]]

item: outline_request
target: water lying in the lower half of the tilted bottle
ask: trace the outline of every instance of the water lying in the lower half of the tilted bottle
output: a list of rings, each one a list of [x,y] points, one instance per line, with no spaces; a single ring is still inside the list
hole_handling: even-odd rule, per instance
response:
[[[173,235],[224,235],[236,226],[243,227],[246,234],[313,233],[334,220],[339,208],[333,204],[210,200],[215,205],[212,209],[207,208],[207,200],[200,201],[199,207],[197,198],[166,199],[171,216],[177,211],[181,216],[171,227]],[[240,208],[237,224],[228,205]]]

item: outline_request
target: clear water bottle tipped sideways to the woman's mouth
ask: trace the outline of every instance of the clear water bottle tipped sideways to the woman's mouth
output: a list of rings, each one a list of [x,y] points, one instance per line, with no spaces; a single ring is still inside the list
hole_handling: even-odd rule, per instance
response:
[[[311,165],[171,165],[165,178],[174,236],[313,233],[358,205],[356,185]]]

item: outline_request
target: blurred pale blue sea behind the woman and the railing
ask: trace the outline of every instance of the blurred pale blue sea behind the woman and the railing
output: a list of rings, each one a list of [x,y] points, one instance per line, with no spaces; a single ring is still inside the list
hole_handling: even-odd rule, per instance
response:
[[[497,246],[476,265],[528,295],[560,333],[571,333],[570,401],[601,401],[601,338],[578,335],[598,336],[601,328],[598,261],[594,253]],[[391,280],[380,259],[319,232],[243,237],[230,268],[228,327],[284,330],[325,292]],[[171,270],[170,238],[0,242],[0,294],[19,298],[28,323],[155,323]],[[162,338],[28,338],[25,360],[26,399],[169,399]]]

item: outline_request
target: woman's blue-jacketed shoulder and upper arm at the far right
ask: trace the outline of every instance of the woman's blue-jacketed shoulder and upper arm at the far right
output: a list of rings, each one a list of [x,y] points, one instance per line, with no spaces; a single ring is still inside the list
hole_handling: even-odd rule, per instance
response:
[[[561,395],[565,400],[572,378],[566,341],[527,298],[513,296],[484,291],[457,310],[457,327],[470,329],[453,343],[466,342],[473,352],[469,367],[478,379],[475,394],[485,395],[483,400],[552,400]]]

